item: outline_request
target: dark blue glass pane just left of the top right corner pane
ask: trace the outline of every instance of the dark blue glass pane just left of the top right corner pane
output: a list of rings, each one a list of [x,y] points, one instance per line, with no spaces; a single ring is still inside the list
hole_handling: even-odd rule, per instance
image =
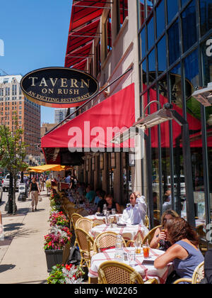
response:
[[[182,38],[184,52],[196,43],[196,6],[195,1],[182,13]]]

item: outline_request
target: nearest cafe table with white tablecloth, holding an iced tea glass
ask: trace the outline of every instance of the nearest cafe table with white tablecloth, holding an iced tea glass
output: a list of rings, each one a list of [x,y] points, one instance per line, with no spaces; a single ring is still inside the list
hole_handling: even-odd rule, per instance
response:
[[[123,248],[124,253],[128,253],[132,250],[135,250],[135,248]],[[88,276],[91,278],[98,278],[98,270],[102,263],[108,261],[108,260],[115,260],[115,249],[105,250],[102,253],[97,253],[96,255],[93,255],[90,263],[90,270],[88,272]],[[156,250],[151,249],[150,250],[150,260],[155,260],[158,258],[158,256],[163,255],[165,252],[162,250]],[[167,265],[164,269],[156,269],[153,264],[151,265],[143,265],[143,251],[141,250],[141,254],[136,254],[136,259],[134,264],[129,264],[129,261],[122,261],[122,263],[125,263],[126,265],[130,265],[134,268],[137,272],[141,274],[141,277],[144,281],[150,280],[152,278],[155,278],[158,280],[160,284],[165,284],[167,280],[168,274],[172,272],[172,263]]]

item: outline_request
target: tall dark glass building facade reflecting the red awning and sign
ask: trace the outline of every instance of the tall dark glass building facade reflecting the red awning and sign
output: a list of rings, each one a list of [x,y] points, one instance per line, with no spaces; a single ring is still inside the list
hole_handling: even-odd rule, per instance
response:
[[[172,208],[186,217],[183,142],[189,142],[195,217],[208,224],[212,210],[212,106],[205,108],[192,94],[196,87],[212,82],[212,0],[138,0],[138,5],[141,114],[151,101],[160,104],[151,104],[146,114],[169,102],[189,123],[189,140],[183,140],[175,121],[146,132],[151,139],[152,181],[151,187],[143,184],[152,192],[148,197],[155,219],[169,199]]]

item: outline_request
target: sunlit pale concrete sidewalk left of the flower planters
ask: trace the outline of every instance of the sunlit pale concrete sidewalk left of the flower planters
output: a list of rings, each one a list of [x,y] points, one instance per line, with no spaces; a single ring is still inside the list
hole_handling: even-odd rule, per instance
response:
[[[49,199],[42,192],[42,202],[32,212],[31,202],[18,202],[16,216],[8,216],[0,206],[5,241],[0,241],[0,284],[45,283],[48,277],[44,236],[49,230]]]

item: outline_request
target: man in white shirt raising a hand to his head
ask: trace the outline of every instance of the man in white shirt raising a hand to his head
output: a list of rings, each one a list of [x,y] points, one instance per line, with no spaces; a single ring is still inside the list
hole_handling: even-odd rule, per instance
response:
[[[139,192],[134,192],[131,194],[129,201],[131,206],[124,209],[121,223],[141,224],[143,226],[147,212],[145,197],[141,197]]]

